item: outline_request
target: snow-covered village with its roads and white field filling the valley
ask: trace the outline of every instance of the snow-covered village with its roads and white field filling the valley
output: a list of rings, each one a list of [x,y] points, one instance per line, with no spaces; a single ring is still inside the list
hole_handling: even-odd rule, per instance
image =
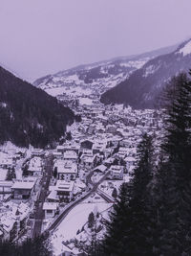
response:
[[[88,105],[74,107],[81,122],[67,128],[54,150],[1,148],[1,240],[48,231],[56,255],[80,255],[93,232],[102,238],[118,189],[133,174],[140,136],[155,136],[157,149],[162,111],[105,107],[96,99],[90,105],[89,97],[82,100]]]

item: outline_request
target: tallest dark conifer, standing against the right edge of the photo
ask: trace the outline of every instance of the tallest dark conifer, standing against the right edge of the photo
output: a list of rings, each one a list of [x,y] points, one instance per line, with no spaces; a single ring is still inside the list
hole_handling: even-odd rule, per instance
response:
[[[157,175],[158,255],[191,255],[191,81],[168,85],[167,118]]]

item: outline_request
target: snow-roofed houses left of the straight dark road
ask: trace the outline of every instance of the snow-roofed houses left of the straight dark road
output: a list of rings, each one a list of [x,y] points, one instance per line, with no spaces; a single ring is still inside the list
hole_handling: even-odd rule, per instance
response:
[[[3,154],[2,151],[0,153]],[[14,241],[26,232],[29,224],[32,198],[36,193],[37,179],[42,172],[42,160],[33,155],[28,160],[29,175],[23,176],[21,167],[26,153],[18,151],[10,156],[9,153],[4,153],[3,156],[0,157],[1,174],[9,169],[19,168],[16,171],[18,174],[11,180],[6,175],[0,176],[0,241]]]

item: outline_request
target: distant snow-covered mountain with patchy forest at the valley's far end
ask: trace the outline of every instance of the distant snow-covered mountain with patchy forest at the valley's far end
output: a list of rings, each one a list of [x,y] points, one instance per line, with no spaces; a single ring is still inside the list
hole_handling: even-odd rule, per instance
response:
[[[171,46],[138,56],[113,58],[81,65],[40,78],[33,84],[53,96],[64,94],[73,97],[90,94],[100,96],[119,82],[126,80],[149,59],[169,53],[174,49],[175,46]]]

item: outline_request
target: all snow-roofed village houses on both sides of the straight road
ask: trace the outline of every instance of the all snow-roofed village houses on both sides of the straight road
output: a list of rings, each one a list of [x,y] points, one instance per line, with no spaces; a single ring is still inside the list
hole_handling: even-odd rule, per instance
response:
[[[141,134],[147,132],[158,138],[162,128],[159,110],[133,110],[96,102],[95,105],[75,105],[74,111],[81,116],[81,122],[69,128],[71,139],[53,150],[53,177],[43,202],[46,219],[53,218],[61,204],[69,203],[85,191],[90,173],[108,174],[109,182],[122,182],[126,175],[134,172]],[[13,241],[23,232],[30,213],[28,204],[44,174],[45,152],[32,150],[25,164],[27,175],[23,173],[21,178],[12,180],[0,178],[0,240]],[[22,157],[21,153],[3,160],[0,157],[0,171],[15,167]],[[5,206],[14,200],[17,206]]]

